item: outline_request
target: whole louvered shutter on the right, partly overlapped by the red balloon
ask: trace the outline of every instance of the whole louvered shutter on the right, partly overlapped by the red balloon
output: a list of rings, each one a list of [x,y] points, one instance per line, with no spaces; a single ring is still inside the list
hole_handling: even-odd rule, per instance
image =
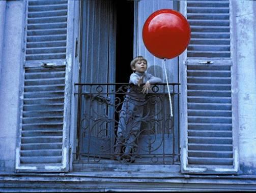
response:
[[[182,171],[234,173],[238,149],[229,1],[186,1],[191,41],[182,67]]]

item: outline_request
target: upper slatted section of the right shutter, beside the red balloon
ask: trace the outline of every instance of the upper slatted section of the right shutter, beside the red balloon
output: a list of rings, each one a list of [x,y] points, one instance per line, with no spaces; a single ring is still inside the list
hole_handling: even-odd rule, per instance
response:
[[[189,58],[230,58],[229,1],[188,1]]]

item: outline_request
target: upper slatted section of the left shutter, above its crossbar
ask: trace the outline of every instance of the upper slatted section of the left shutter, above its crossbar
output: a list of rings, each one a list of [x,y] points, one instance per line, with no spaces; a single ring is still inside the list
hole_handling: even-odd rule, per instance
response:
[[[67,1],[29,1],[27,9],[26,61],[65,59]]]

